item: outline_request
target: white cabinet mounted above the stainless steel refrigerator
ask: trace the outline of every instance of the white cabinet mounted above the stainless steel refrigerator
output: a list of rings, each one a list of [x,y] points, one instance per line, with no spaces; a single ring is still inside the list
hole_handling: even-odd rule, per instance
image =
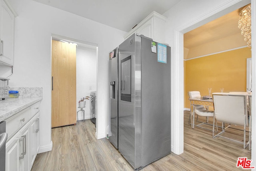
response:
[[[152,38],[154,41],[159,43],[165,42],[164,29],[167,18],[153,11],[144,20],[142,20],[136,27],[128,32],[124,39],[127,39],[132,34],[144,35]]]

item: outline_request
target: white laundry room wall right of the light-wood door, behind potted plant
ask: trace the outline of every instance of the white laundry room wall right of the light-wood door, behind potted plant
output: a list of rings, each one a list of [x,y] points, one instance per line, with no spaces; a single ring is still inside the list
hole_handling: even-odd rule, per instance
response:
[[[96,47],[76,48],[76,108],[78,108],[78,101],[85,96],[90,97],[91,91],[96,91]],[[90,90],[90,86],[92,89]],[[84,109],[84,119],[90,119],[93,116],[90,115],[90,100],[86,101],[86,107]],[[83,119],[82,111],[78,112],[78,119]]]

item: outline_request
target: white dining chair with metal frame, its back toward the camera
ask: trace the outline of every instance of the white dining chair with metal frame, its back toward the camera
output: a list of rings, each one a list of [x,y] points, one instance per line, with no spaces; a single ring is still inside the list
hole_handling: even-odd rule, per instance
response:
[[[222,122],[222,131],[217,135],[214,135],[214,126],[212,127],[212,137],[222,137],[230,141],[241,143],[244,145],[244,149],[249,145],[251,139],[251,119],[248,117],[247,112],[247,95],[244,93],[212,93],[214,102],[214,120]],[[228,126],[225,127],[225,123]],[[221,134],[228,128],[239,129],[231,127],[231,125],[241,125],[244,129],[244,141],[238,141],[230,137],[222,136]],[[246,128],[249,127],[249,139],[246,143]],[[250,149],[250,147],[249,147]]]

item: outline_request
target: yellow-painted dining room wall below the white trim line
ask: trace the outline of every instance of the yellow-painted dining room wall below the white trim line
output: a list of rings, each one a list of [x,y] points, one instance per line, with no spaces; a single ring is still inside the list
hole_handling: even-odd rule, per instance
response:
[[[250,48],[241,48],[220,54],[187,60],[184,64],[184,107],[190,108],[188,91],[200,91],[201,96],[212,93],[246,91],[246,58],[251,58]]]

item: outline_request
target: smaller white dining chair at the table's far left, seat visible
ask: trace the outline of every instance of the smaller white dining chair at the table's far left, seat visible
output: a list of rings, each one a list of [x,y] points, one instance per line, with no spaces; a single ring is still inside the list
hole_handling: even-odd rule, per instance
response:
[[[200,98],[201,95],[200,95],[200,91],[188,91],[188,95],[190,98]],[[198,121],[198,115],[199,116],[205,116],[206,117],[206,122],[202,122],[202,121],[198,121],[200,122],[198,125],[195,125],[195,114],[197,114],[197,119],[196,121]],[[210,110],[207,110],[203,105],[193,105],[192,106],[192,111],[190,111],[190,117],[189,117],[189,120],[191,118],[191,127],[194,128],[195,126],[196,127],[200,127],[200,128],[203,128],[203,129],[207,129],[209,131],[212,131],[212,129],[208,129],[206,127],[202,127],[201,125],[203,124],[207,124],[207,125],[212,125],[210,123],[208,123],[208,117],[213,117],[214,115],[214,111],[210,111]],[[189,123],[189,121],[188,121]],[[216,125],[216,128],[217,128],[217,131],[218,131],[218,125]]]

